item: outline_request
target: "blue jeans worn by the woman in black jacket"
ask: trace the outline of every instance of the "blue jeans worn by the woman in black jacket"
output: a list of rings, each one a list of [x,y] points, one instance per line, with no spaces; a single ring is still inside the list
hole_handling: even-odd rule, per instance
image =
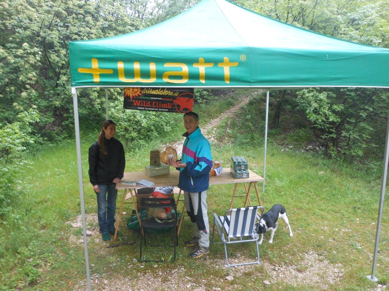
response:
[[[115,229],[116,197],[118,190],[116,184],[99,185],[100,192],[97,195],[97,217],[99,220],[100,232],[107,233]]]

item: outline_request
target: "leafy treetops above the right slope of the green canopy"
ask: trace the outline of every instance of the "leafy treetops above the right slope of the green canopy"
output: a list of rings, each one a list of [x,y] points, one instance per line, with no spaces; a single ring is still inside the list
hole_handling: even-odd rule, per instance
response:
[[[236,0],[250,10],[315,32],[388,48],[386,1]]]

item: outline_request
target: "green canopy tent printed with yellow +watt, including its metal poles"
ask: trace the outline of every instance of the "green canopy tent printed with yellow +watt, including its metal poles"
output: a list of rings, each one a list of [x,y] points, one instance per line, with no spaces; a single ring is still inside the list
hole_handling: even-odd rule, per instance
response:
[[[202,0],[186,12],[138,32],[72,41],[69,51],[84,227],[77,88],[389,87],[389,49],[304,30],[227,0]],[[266,130],[268,95],[269,91]],[[267,131],[265,153],[266,135]],[[387,141],[376,250],[388,152]],[[89,283],[85,229],[84,241]],[[372,279],[375,264],[374,257]]]

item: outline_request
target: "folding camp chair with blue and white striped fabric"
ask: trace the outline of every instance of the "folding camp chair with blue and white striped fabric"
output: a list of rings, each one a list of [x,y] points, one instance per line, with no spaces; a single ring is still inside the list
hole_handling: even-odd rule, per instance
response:
[[[224,251],[226,254],[227,267],[240,266],[249,264],[259,264],[259,249],[258,249],[258,209],[261,209],[261,216],[264,213],[262,206],[251,206],[246,208],[227,210],[224,216],[218,216],[213,213],[213,230],[212,242],[224,243]],[[215,242],[214,232],[215,228],[220,235],[221,242]],[[232,239],[232,240],[231,240]],[[230,264],[227,255],[227,244],[254,242],[257,248],[257,260],[248,263]]]

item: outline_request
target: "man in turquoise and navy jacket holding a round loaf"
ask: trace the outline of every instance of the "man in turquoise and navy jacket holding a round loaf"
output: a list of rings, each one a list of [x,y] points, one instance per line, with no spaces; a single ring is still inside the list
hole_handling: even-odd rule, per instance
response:
[[[184,127],[187,130],[180,161],[168,160],[180,171],[178,188],[184,191],[185,207],[194,226],[194,238],[185,242],[188,246],[197,245],[190,253],[199,258],[209,253],[210,226],[208,221],[207,190],[212,169],[211,146],[198,127],[198,115],[184,114]]]

